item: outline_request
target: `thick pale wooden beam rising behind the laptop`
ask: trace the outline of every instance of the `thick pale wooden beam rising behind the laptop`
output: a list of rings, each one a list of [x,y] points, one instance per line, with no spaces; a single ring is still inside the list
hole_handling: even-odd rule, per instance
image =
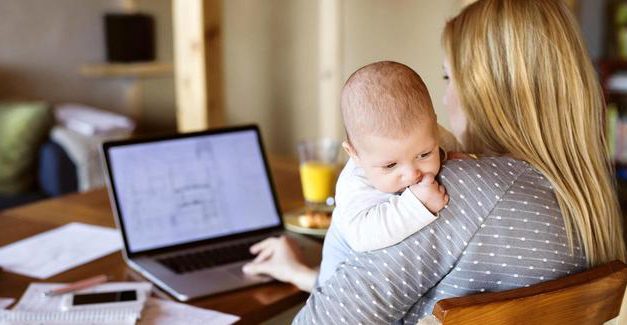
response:
[[[174,64],[180,132],[224,123],[220,0],[174,0]]]

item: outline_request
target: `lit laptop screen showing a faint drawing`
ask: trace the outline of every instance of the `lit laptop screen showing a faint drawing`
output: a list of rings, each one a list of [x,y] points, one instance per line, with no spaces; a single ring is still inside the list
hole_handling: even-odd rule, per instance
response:
[[[279,226],[256,129],[108,149],[128,251]]]

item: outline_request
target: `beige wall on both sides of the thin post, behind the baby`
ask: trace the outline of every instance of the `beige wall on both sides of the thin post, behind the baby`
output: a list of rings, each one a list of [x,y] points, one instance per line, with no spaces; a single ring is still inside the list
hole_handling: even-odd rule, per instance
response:
[[[377,60],[414,68],[441,110],[440,32],[456,0],[344,0],[343,75]],[[257,122],[268,147],[293,154],[317,136],[318,5],[310,0],[224,1],[226,112],[229,123]]]

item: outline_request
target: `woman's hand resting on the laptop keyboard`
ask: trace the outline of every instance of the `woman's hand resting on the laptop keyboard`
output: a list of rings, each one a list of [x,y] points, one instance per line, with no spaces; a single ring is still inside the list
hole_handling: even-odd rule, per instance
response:
[[[257,257],[244,265],[243,272],[249,275],[265,274],[279,281],[289,282],[299,289],[311,292],[318,270],[305,264],[298,244],[286,237],[267,238],[250,247]]]

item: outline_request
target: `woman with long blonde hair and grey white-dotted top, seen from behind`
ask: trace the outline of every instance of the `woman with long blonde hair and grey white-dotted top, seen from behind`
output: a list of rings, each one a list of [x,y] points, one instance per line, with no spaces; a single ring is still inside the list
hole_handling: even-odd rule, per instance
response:
[[[563,2],[480,0],[447,23],[443,44],[445,103],[485,157],[448,161],[440,218],[332,270],[297,323],[415,322],[440,299],[624,260],[604,102]],[[253,266],[285,256],[264,254]]]

